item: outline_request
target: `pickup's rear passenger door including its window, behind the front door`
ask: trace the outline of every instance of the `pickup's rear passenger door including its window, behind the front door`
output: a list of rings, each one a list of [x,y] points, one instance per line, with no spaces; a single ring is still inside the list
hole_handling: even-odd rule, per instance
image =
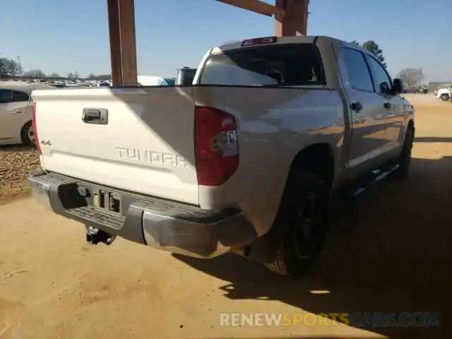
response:
[[[343,85],[350,100],[352,138],[348,163],[351,174],[365,172],[381,161],[387,147],[386,109],[374,83],[364,53],[340,48]]]

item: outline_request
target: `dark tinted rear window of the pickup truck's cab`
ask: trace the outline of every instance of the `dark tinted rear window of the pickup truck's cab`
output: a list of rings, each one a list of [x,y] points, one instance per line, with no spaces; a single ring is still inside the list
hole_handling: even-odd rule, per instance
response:
[[[315,44],[273,44],[232,49],[211,55],[201,85],[309,86],[326,85]]]

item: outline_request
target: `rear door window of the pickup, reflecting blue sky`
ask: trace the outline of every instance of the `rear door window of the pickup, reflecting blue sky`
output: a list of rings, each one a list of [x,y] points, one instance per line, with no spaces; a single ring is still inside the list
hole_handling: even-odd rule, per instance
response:
[[[355,90],[374,92],[374,84],[364,54],[350,48],[343,48],[342,54],[350,87]]]

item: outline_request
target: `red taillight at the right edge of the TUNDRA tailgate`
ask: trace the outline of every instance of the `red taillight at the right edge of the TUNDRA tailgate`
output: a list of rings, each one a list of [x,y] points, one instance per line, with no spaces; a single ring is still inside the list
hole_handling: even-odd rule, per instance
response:
[[[212,107],[196,107],[195,159],[198,184],[219,186],[239,167],[237,119]]]

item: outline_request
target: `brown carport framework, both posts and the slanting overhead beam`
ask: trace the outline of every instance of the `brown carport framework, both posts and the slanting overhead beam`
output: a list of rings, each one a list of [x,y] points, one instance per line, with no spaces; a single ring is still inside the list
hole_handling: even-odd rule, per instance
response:
[[[309,0],[215,0],[275,18],[275,36],[306,35]],[[112,82],[136,85],[136,39],[134,0],[107,0]]]

